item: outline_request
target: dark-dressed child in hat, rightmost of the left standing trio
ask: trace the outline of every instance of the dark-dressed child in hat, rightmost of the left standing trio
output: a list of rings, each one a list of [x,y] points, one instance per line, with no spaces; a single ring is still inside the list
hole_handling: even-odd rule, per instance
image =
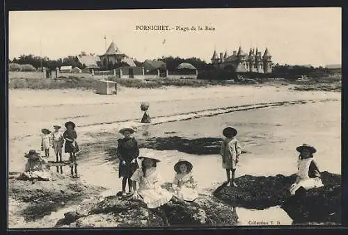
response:
[[[75,131],[76,125],[74,122],[66,122],[65,123],[66,131],[63,133],[63,137],[65,139],[65,152],[70,154],[70,170],[71,176],[75,178],[79,178],[77,175],[77,161],[76,161],[76,153],[79,152],[79,145],[77,145],[77,133]]]

